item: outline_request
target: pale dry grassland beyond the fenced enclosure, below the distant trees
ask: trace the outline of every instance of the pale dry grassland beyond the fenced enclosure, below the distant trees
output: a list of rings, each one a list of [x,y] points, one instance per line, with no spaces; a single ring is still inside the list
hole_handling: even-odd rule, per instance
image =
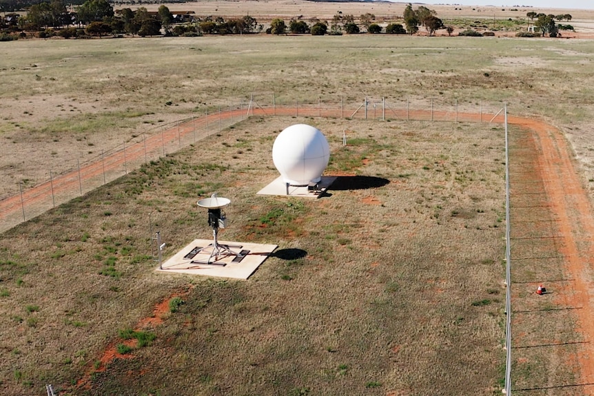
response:
[[[571,128],[591,162],[588,41],[262,35],[17,41],[2,51],[0,197],[174,121],[245,107],[252,94],[278,105],[408,98],[425,109],[433,98],[493,112],[506,101],[513,114]]]

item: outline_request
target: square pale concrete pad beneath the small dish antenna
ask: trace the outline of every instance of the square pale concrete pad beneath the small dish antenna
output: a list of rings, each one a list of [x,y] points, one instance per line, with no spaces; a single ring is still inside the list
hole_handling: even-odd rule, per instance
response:
[[[212,240],[195,239],[192,243],[178,251],[172,258],[157,267],[158,272],[189,273],[192,275],[217,276],[221,278],[247,279],[260,264],[276,249],[276,244],[258,244],[243,242],[218,241],[219,245],[227,245],[234,253],[243,255],[221,255],[217,264],[205,264],[209,260],[211,249],[195,253],[198,249],[208,247]],[[198,248],[198,249],[196,249]],[[245,252],[247,251],[247,252]],[[242,257],[243,256],[243,257]],[[211,260],[212,261],[212,260]],[[224,264],[224,265],[223,265]]]

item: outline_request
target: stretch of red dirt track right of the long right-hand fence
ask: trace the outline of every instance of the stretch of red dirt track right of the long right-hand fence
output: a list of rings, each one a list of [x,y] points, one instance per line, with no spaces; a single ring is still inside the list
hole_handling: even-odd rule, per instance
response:
[[[577,350],[580,375],[573,384],[576,386],[573,394],[591,395],[594,392],[594,299],[591,298],[594,286],[593,207],[571,148],[558,129],[528,118],[510,117],[509,124],[529,129],[532,134],[531,149],[536,156],[538,177],[544,185],[546,202],[551,205],[549,210],[555,218],[557,235],[561,238],[557,243],[558,253],[564,257],[564,272],[571,280],[571,284],[556,287],[557,293],[560,293],[558,301],[575,309],[577,332],[582,337]],[[511,224],[513,227],[513,220]]]

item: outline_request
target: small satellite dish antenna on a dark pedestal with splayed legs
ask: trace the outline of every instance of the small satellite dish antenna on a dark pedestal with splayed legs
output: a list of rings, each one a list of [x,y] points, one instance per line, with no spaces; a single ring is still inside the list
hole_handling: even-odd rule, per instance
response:
[[[228,198],[223,198],[212,194],[210,198],[203,198],[196,202],[199,207],[203,207],[208,209],[208,225],[212,228],[212,236],[213,241],[207,247],[203,247],[198,251],[198,253],[210,250],[210,256],[208,260],[194,260],[192,263],[199,263],[199,264],[217,264],[217,265],[225,265],[225,263],[218,262],[220,258],[224,258],[227,256],[237,256],[237,253],[232,251],[230,248],[240,246],[232,246],[229,244],[219,244],[218,243],[218,229],[225,228],[227,225],[227,218],[225,217],[225,212],[221,211],[221,208],[226,207],[231,203],[231,200]]]

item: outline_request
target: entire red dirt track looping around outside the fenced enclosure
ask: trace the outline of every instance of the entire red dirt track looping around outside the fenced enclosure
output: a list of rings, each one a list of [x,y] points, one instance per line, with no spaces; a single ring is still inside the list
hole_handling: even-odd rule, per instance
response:
[[[237,113],[236,113],[237,114]],[[318,108],[304,107],[275,107],[262,108],[254,107],[253,115],[258,116],[322,116],[322,117],[342,117],[350,114],[343,113],[342,110],[320,110]],[[433,121],[461,121],[461,122],[482,122],[489,121],[493,114],[471,114],[460,113],[455,115],[444,112],[427,112],[406,110],[397,110],[390,114],[392,118],[415,119],[415,120],[433,120]],[[209,122],[215,123],[221,118],[231,118],[232,112],[222,112],[209,116]],[[493,122],[502,123],[504,117],[502,114],[497,116]],[[139,159],[145,156],[147,149],[154,150],[165,142],[178,140],[181,136],[192,134],[195,131],[194,125],[207,123],[207,117],[196,118],[179,125],[155,136],[147,137],[145,141],[136,143],[127,147],[125,157],[127,160]],[[577,362],[580,366],[579,378],[575,381],[581,384],[581,394],[591,394],[594,392],[594,297],[591,298],[590,291],[594,291],[594,210],[589,200],[588,193],[582,185],[582,180],[578,173],[577,165],[573,160],[571,147],[569,147],[563,134],[555,127],[542,121],[530,118],[513,117],[508,118],[509,125],[518,125],[523,129],[531,131],[535,145],[539,148],[533,153],[536,156],[537,169],[540,179],[545,185],[546,198],[551,204],[551,211],[558,219],[557,227],[564,243],[559,253],[566,257],[565,273],[573,278],[575,282],[568,286],[567,293],[561,289],[563,303],[567,306],[580,307],[576,310],[579,318],[578,331],[582,335],[583,343],[578,346]],[[146,148],[145,146],[146,145]],[[87,180],[104,174],[104,169],[121,168],[126,158],[122,152],[116,152],[110,156],[105,156],[103,161],[85,165],[81,168],[81,178]],[[512,158],[511,163],[517,158]],[[52,180],[50,183],[38,185],[27,191],[23,191],[23,200],[30,205],[32,202],[47,202],[51,199],[52,189],[54,194],[67,189],[76,189],[79,185],[79,172],[71,171],[68,174]],[[50,187],[52,189],[50,189]],[[58,203],[58,202],[57,202]],[[513,202],[512,202],[513,206]],[[0,224],[5,222],[9,216],[14,218],[22,210],[21,196],[12,196],[0,201]],[[513,226],[513,219],[511,220]],[[14,226],[14,225],[13,225]],[[1,227],[1,229],[8,229]],[[0,230],[1,231],[1,230]],[[580,249],[578,249],[578,244]],[[582,249],[586,246],[587,249]],[[512,251],[512,255],[514,252]],[[570,293],[571,291],[571,293]],[[594,296],[594,294],[593,294]],[[512,301],[513,307],[513,301]]]

